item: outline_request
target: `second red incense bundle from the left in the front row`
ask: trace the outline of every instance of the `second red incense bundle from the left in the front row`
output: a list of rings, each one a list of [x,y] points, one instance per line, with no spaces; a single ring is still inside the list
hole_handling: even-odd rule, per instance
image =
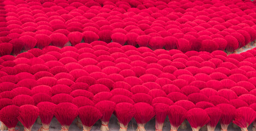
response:
[[[39,115],[39,109],[34,105],[22,105],[19,108],[18,120],[23,124],[25,131],[31,131]]]

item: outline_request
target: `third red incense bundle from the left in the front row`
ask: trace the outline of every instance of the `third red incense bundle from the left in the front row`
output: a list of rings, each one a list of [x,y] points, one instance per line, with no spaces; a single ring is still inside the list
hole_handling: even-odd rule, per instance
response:
[[[55,104],[50,102],[41,102],[37,104],[39,117],[42,121],[42,127],[38,131],[49,131],[50,122],[53,119]]]

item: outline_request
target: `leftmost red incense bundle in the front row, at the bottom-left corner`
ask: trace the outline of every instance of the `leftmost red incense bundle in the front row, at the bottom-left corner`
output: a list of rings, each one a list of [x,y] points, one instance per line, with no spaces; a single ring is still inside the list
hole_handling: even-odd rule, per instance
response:
[[[2,125],[8,127],[8,131],[15,130],[16,124],[18,123],[19,107],[16,105],[5,106],[0,111],[0,120]],[[4,129],[5,130],[5,129]]]

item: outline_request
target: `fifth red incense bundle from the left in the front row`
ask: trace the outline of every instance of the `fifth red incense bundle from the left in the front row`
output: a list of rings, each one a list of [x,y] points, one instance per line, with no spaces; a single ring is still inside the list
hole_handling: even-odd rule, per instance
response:
[[[83,123],[83,130],[90,131],[93,124],[102,116],[101,112],[93,106],[83,106],[78,109],[78,115]]]

